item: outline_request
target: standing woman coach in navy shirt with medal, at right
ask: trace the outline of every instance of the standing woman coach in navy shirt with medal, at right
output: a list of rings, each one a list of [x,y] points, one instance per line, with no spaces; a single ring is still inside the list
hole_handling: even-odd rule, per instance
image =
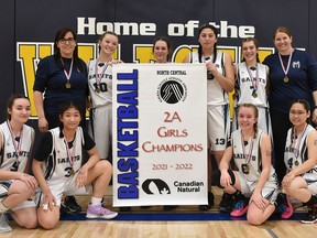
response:
[[[270,68],[270,113],[274,141],[274,167],[280,183],[286,173],[284,150],[287,130],[292,127],[288,111],[292,102],[306,99],[313,110],[313,122],[317,122],[317,62],[315,57],[292,46],[289,29],[275,30],[273,42],[277,50],[263,64]]]

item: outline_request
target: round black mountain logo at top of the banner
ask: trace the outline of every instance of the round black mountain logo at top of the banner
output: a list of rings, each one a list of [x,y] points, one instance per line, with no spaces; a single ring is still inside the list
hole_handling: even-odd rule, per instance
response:
[[[157,98],[161,102],[177,104],[178,101],[184,101],[186,97],[187,87],[179,78],[166,78],[157,87]]]

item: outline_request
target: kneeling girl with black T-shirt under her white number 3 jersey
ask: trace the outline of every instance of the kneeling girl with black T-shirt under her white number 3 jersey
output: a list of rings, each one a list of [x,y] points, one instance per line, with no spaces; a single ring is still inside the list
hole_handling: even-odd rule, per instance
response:
[[[61,127],[47,131],[39,145],[33,160],[33,173],[42,193],[39,195],[39,224],[52,229],[59,220],[63,195],[90,194],[91,203],[87,218],[111,219],[118,214],[101,206],[112,175],[112,166],[100,160],[92,139],[78,127],[81,116],[80,106],[72,101],[59,109]],[[81,165],[83,149],[89,154]]]

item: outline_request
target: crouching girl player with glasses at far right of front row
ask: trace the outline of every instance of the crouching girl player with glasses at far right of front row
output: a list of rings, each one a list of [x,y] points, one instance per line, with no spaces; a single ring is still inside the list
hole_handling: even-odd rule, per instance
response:
[[[284,153],[287,173],[282,186],[288,196],[307,204],[308,213],[302,223],[314,224],[317,221],[317,131],[309,125],[307,100],[292,104],[289,121],[293,127],[287,132]]]

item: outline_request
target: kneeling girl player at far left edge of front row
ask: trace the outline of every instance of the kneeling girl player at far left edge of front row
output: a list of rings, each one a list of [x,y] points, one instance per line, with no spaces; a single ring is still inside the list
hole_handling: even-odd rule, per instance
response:
[[[37,225],[36,205],[30,198],[37,182],[28,173],[34,142],[34,130],[25,125],[30,113],[30,99],[13,95],[8,101],[8,120],[0,125],[0,234],[12,230],[7,212],[21,227]]]

